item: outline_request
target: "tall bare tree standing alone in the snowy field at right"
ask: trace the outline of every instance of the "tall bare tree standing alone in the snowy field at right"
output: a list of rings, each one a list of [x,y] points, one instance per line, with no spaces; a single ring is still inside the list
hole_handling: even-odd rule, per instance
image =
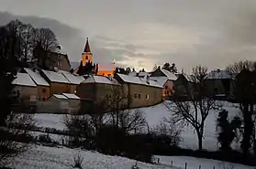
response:
[[[220,105],[216,100],[206,97],[206,85],[204,79],[207,69],[197,66],[192,70],[192,75],[187,76],[190,83],[181,84],[186,92],[186,101],[173,100],[166,107],[172,112],[175,123],[190,124],[197,135],[198,150],[203,149],[203,138],[206,119],[212,111],[218,111]]]

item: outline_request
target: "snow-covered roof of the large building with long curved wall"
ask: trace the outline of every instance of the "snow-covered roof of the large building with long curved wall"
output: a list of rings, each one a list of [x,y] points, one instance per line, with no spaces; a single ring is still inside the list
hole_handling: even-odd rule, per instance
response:
[[[144,78],[139,78],[139,77],[132,77],[132,76],[119,74],[119,73],[117,73],[117,76],[120,79],[122,79],[123,81],[127,82],[127,83],[134,83],[134,84],[140,84],[140,85],[162,88],[162,86],[155,80],[149,80],[147,82],[147,76],[144,77]]]

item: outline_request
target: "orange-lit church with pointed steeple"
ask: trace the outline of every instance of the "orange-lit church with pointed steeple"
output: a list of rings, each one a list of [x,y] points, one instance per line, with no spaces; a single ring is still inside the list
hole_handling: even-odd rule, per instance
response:
[[[74,69],[73,73],[78,75],[95,74],[106,77],[114,76],[116,69],[115,61],[112,63],[94,63],[93,58],[94,56],[87,37],[80,66],[77,69]]]

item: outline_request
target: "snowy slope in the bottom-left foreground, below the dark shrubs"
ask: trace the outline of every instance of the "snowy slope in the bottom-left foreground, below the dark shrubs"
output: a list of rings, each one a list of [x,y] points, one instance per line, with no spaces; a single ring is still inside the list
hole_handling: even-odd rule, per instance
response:
[[[79,149],[65,147],[55,148],[32,145],[26,153],[11,159],[9,167],[16,169],[72,169],[73,157],[77,154],[83,157],[84,169],[130,169],[135,160],[119,156],[109,156]],[[177,169],[176,167],[145,164],[138,162],[139,169]]]

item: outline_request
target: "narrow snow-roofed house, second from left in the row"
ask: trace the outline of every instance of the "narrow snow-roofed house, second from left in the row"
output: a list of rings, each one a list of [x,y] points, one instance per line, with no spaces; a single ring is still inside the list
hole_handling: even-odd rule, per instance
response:
[[[50,98],[50,84],[47,80],[40,76],[37,69],[24,68],[24,70],[38,86],[38,100],[48,100]]]

